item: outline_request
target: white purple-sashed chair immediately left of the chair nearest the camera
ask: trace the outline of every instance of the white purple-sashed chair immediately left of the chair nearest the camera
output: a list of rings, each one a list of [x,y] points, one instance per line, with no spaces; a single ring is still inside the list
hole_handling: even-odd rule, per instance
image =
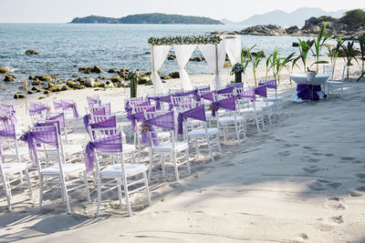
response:
[[[28,143],[33,142],[35,144],[43,145],[43,148],[30,151],[35,157],[36,167],[38,170],[39,210],[42,208],[43,190],[46,184],[59,185],[61,187],[62,201],[66,203],[68,214],[71,213],[68,192],[80,187],[85,187],[88,202],[90,202],[89,183],[85,163],[69,163],[69,161],[66,160],[62,140],[57,131],[57,125],[55,124],[50,127],[32,127],[28,133],[30,133],[30,135],[26,134],[23,139],[26,139],[26,137],[32,137],[30,138],[32,141],[26,141]],[[53,153],[49,153],[51,150]],[[53,162],[53,165],[42,167],[42,162],[44,161],[46,161],[47,164]],[[69,187],[78,181],[82,182],[84,185],[78,184],[75,187]]]

